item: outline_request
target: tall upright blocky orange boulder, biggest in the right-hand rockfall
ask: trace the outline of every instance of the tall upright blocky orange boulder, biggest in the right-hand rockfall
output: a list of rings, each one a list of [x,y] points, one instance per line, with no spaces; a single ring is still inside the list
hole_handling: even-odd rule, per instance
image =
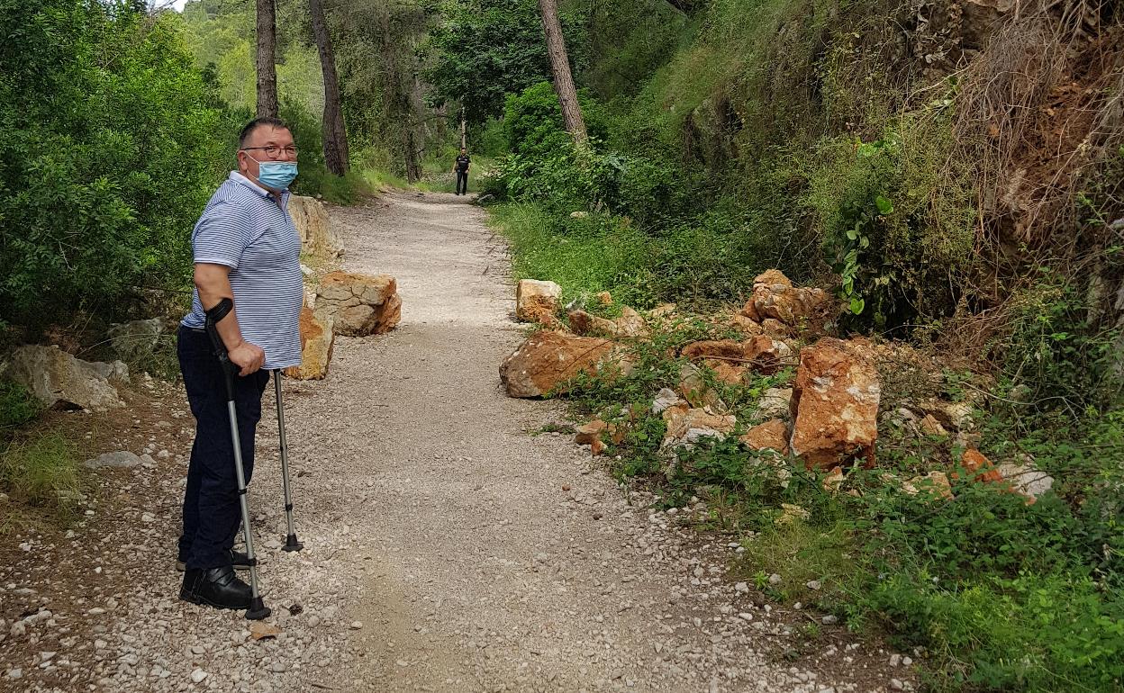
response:
[[[792,453],[808,467],[874,462],[881,387],[869,345],[825,337],[800,350],[792,389]]]

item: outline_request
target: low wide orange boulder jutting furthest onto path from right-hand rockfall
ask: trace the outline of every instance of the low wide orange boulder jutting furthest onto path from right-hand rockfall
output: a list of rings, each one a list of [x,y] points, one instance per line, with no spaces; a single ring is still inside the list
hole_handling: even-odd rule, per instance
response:
[[[499,377],[507,394],[543,396],[579,373],[628,373],[632,362],[608,339],[552,330],[535,332],[504,359]]]

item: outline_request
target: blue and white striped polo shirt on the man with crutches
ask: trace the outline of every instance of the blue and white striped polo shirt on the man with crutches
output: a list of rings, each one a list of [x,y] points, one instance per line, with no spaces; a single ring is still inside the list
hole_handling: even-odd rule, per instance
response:
[[[196,263],[230,267],[230,289],[242,337],[265,352],[266,370],[300,365],[300,236],[282,206],[237,171],[219,185],[191,232]],[[205,326],[199,291],[185,327]]]

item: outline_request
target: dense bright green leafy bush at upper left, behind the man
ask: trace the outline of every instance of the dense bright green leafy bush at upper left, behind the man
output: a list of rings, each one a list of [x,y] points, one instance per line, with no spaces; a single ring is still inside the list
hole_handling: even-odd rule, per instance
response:
[[[219,115],[174,28],[124,2],[4,0],[0,35],[0,319],[185,282]]]

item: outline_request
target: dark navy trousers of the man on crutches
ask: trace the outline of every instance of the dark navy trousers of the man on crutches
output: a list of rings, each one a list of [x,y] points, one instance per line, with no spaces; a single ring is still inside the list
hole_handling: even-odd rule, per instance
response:
[[[226,381],[206,332],[181,326],[179,356],[188,402],[196,417],[196,441],[183,494],[180,559],[189,568],[215,568],[230,563],[229,549],[242,521]],[[254,431],[262,418],[262,393],[269,380],[269,371],[234,379],[246,484],[254,472]]]

